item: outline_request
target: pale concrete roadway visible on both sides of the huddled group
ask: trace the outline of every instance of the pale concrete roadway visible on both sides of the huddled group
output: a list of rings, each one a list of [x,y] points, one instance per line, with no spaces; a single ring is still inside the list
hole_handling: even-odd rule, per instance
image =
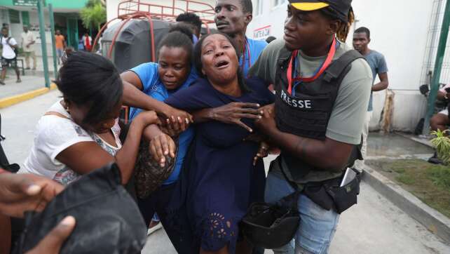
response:
[[[0,109],[2,142],[10,162],[22,163],[34,138],[41,115],[60,96],[58,91]],[[370,142],[370,141],[369,141]],[[428,232],[393,203],[362,183],[358,204],[341,215],[329,253],[450,253],[450,246]],[[175,253],[163,230],[152,234],[144,254]],[[266,253],[272,253],[266,250]]]

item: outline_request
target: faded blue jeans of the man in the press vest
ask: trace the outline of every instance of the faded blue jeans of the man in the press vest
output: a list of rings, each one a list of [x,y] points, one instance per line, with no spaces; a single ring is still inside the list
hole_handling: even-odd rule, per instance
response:
[[[278,175],[268,173],[264,199],[267,203],[275,203],[294,192],[286,180]],[[294,241],[274,249],[275,254],[325,254],[339,221],[339,214],[334,210],[325,210],[301,194],[299,196],[300,226]],[[295,247],[294,247],[295,246]]]

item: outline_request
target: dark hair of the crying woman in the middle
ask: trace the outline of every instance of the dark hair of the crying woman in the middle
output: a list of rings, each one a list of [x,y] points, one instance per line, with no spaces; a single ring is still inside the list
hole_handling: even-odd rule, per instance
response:
[[[200,40],[198,40],[198,42],[197,42],[197,44],[196,44],[196,46],[195,46],[195,48],[193,50],[193,64],[195,65],[195,67],[197,69],[198,76],[200,76],[203,79],[205,79],[206,76],[202,72],[202,69],[203,69],[202,46],[203,46],[203,41],[205,41],[205,39],[207,37],[211,36],[212,34],[221,34],[221,35],[223,35],[231,43],[231,45],[233,45],[233,48],[236,51],[236,55],[238,55],[238,58],[240,56],[240,51],[238,50],[238,46],[236,46],[236,44],[234,43],[233,39],[231,39],[231,37],[228,34],[224,34],[224,33],[221,33],[221,32],[212,32],[210,34],[202,36],[200,38]],[[240,67],[238,68],[238,82],[239,82],[240,89],[244,93],[250,91],[250,89],[245,84],[243,69],[240,68]]]

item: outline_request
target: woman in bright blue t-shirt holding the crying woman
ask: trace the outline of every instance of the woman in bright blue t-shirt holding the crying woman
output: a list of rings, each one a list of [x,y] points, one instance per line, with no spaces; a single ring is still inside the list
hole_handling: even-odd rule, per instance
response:
[[[192,36],[189,36],[189,34],[191,34],[189,29],[184,29],[184,27],[172,29],[172,32],[167,34],[158,45],[158,63],[146,62],[121,74],[125,83],[125,104],[135,106],[130,109],[130,120],[142,112],[142,109],[155,108],[156,111],[163,112],[163,114],[164,111],[170,112],[170,107],[165,105],[163,100],[169,98],[172,93],[189,87],[193,81],[196,81],[197,74],[191,68],[193,43],[191,41]],[[127,83],[128,86],[126,86]],[[137,91],[137,89],[140,91]],[[151,103],[153,105],[149,105]],[[158,107],[165,110],[158,110]],[[172,109],[172,112],[175,110]],[[191,117],[187,113],[184,114],[188,118]],[[165,115],[174,116],[170,113]],[[193,138],[193,130],[187,128],[189,122],[186,123],[186,120],[181,119],[181,117],[177,117],[174,121],[179,125],[177,131],[182,133],[179,134],[177,142],[178,152],[173,171],[155,192],[144,199],[138,198],[139,209],[144,216],[146,225],[149,225],[154,213],[158,213],[170,238],[174,234],[170,230],[170,226],[165,223],[164,210],[181,171],[186,150]]]

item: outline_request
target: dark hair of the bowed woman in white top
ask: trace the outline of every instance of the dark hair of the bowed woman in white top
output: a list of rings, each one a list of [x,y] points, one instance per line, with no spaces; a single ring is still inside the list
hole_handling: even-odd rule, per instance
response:
[[[83,123],[105,120],[121,102],[123,84],[114,64],[107,58],[88,52],[69,55],[55,81],[64,99],[90,107]]]

